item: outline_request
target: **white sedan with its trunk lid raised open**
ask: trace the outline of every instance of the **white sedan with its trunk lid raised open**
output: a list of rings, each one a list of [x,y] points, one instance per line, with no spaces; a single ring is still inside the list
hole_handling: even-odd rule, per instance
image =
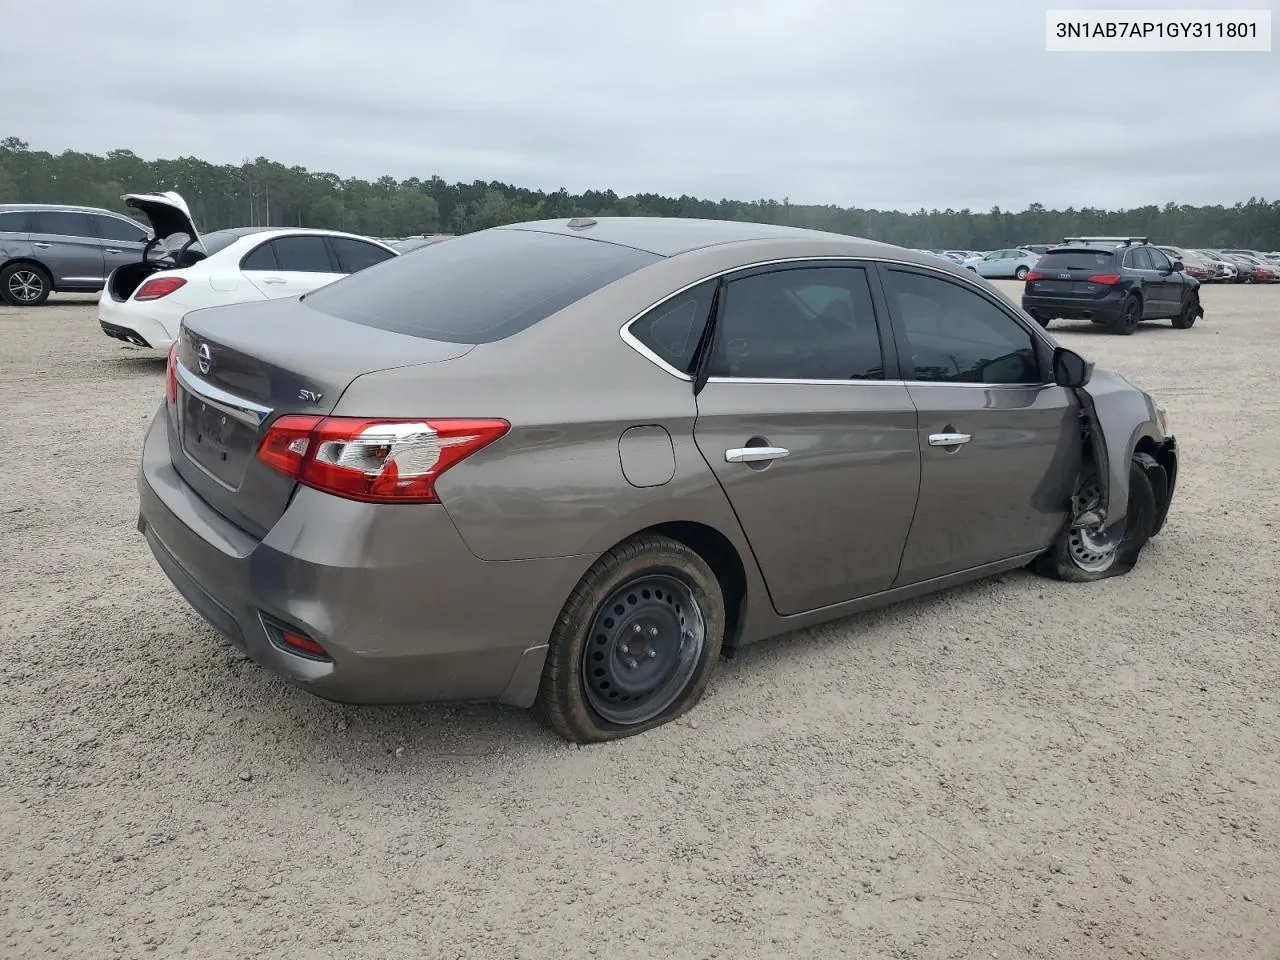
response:
[[[97,301],[102,333],[166,351],[192,310],[297,297],[398,256],[338,230],[238,227],[200,234],[177,193],[131,193],[154,232],[142,260],[116,268]]]

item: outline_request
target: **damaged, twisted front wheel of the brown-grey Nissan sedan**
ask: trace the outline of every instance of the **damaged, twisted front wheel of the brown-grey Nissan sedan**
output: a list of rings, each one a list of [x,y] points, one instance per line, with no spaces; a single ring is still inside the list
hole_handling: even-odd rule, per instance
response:
[[[1124,530],[1103,536],[1094,516],[1101,493],[1096,474],[1085,475],[1075,495],[1071,522],[1036,559],[1036,572],[1056,580],[1088,582],[1128,573],[1156,527],[1156,494],[1143,465],[1129,465],[1129,509]]]

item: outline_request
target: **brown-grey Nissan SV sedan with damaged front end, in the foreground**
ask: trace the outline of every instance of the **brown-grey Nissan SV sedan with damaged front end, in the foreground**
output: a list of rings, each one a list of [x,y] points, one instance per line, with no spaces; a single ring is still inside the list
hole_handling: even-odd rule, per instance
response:
[[[1176,471],[1147,394],[959,266],[602,218],[188,314],[138,527],[320,696],[497,699],[589,742],[756,640],[1029,563],[1123,573]]]

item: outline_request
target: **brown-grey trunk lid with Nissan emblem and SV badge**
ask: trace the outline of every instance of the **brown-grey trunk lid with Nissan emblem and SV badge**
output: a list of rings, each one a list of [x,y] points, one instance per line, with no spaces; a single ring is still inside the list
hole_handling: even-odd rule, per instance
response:
[[[169,411],[174,467],[214,509],[264,536],[294,488],[256,457],[271,422],[285,413],[329,413],[364,374],[471,349],[352,324],[302,298],[197,310],[179,334],[178,397]]]

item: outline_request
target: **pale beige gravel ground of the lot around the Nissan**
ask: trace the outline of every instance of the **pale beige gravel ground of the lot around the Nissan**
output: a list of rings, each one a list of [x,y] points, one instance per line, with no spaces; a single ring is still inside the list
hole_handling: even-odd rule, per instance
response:
[[[0,308],[0,956],[1280,957],[1280,288],[1203,300],[1052,328],[1181,444],[1132,575],[760,644],[589,749],[238,659],[134,530],[163,360]]]

